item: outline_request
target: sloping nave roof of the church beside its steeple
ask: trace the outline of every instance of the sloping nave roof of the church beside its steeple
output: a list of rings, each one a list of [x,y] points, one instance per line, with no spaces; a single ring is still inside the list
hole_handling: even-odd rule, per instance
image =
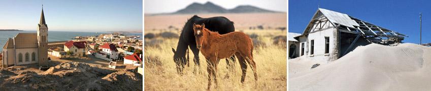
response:
[[[38,48],[36,33],[18,33],[15,36],[15,48]]]

